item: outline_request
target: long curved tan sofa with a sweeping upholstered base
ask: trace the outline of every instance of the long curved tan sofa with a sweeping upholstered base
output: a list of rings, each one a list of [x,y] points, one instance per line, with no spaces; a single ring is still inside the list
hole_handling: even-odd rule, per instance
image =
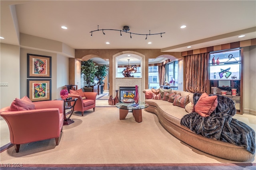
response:
[[[143,92],[148,90],[151,89],[143,90]],[[189,100],[193,103],[192,93],[173,91],[180,92],[182,97],[189,95]],[[188,114],[184,108],[173,106],[172,103],[164,100],[146,99],[145,102],[149,105],[145,110],[155,113],[163,127],[184,143],[208,154],[229,160],[244,162],[254,158],[255,154],[251,154],[244,147],[197,135],[187,127],[180,125],[182,117]]]

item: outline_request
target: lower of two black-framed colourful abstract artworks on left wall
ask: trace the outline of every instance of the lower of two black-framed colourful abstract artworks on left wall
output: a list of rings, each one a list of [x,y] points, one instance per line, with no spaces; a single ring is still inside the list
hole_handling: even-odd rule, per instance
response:
[[[27,79],[27,96],[32,102],[51,100],[51,80]]]

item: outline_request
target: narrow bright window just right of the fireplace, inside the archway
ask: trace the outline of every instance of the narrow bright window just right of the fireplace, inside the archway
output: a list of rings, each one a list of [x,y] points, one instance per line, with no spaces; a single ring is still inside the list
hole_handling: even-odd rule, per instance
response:
[[[158,66],[148,67],[148,88],[159,88]]]

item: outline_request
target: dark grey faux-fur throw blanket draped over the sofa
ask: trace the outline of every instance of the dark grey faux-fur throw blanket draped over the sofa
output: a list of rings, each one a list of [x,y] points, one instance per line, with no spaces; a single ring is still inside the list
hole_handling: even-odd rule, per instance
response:
[[[201,94],[194,93],[194,105]],[[218,95],[218,106],[209,117],[198,113],[184,115],[180,124],[198,135],[242,146],[248,152],[255,153],[255,131],[245,123],[232,118],[236,114],[234,102]]]

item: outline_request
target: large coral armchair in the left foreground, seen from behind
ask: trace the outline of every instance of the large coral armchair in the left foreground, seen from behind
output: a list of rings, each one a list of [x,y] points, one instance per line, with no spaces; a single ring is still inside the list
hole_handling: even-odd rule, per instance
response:
[[[10,142],[19,152],[20,144],[55,138],[59,144],[63,126],[63,100],[33,102],[35,109],[10,111],[10,107],[0,110],[0,115],[8,124]]]

